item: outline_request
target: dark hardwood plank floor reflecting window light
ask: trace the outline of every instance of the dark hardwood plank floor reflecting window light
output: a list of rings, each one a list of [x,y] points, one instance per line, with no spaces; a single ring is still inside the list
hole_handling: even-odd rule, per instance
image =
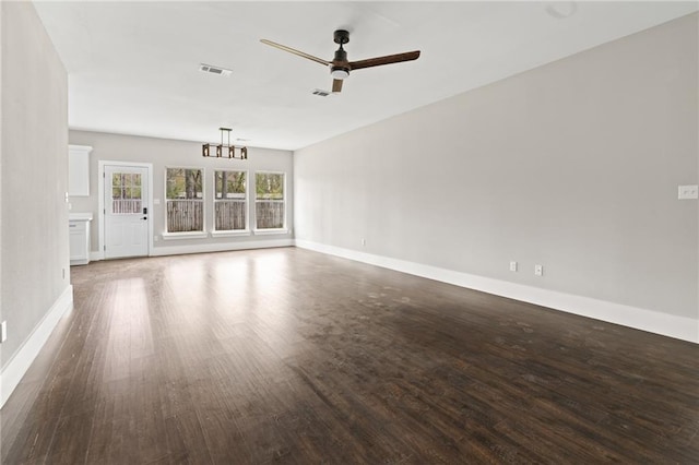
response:
[[[699,346],[301,249],[71,269],[3,464],[699,463]]]

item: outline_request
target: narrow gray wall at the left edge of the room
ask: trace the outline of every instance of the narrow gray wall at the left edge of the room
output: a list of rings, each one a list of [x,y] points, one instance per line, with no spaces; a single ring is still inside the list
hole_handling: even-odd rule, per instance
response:
[[[68,78],[32,3],[0,9],[4,366],[70,283]]]

